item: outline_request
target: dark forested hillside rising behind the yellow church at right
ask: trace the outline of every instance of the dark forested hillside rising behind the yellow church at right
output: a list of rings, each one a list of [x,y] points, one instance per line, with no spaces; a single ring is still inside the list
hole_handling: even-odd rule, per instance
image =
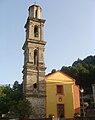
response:
[[[92,84],[95,84],[95,55],[83,60],[78,59],[72,66],[63,66],[61,71],[76,79],[76,83],[85,90],[85,94],[92,93]]]

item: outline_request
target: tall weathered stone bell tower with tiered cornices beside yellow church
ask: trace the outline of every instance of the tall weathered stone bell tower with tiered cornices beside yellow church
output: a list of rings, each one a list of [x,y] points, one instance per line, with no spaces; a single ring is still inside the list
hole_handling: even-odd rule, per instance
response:
[[[23,92],[33,107],[34,118],[45,117],[45,63],[44,23],[42,9],[34,4],[29,7],[25,24],[26,39],[23,45]]]

